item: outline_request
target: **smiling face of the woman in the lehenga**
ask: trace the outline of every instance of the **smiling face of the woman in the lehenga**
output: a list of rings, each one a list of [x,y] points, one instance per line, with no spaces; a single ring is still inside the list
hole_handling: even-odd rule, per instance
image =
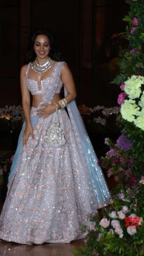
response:
[[[39,59],[48,58],[50,45],[49,38],[46,35],[37,35],[37,37],[35,37],[34,51]]]

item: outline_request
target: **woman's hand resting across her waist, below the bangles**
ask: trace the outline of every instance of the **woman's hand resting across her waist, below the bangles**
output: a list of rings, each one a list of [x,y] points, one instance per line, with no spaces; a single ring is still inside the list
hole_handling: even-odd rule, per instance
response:
[[[40,117],[48,117],[56,111],[56,104],[41,104],[41,106],[44,108],[37,111],[37,114],[40,115]]]

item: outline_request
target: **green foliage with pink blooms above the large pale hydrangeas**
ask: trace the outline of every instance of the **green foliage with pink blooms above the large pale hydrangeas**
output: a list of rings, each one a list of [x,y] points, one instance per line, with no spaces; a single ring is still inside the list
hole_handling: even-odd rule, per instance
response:
[[[129,1],[130,10],[123,18],[127,24],[126,32],[120,37],[128,40],[128,48],[121,51],[122,59],[120,74],[113,80],[115,84],[122,84],[132,75],[143,75],[144,63],[144,5],[143,0]]]

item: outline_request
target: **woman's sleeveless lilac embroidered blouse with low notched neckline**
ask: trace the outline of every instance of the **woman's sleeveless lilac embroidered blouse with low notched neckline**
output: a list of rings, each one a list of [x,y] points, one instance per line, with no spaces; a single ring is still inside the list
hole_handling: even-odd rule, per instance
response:
[[[31,92],[32,95],[45,95],[46,92],[48,92],[48,90],[51,89],[51,84],[52,84],[52,79],[54,79],[54,74],[57,70],[58,65],[62,65],[65,62],[56,62],[56,64],[54,64],[53,70],[51,75],[48,78],[42,79],[40,81],[40,87],[38,86],[38,81],[29,78],[29,68],[31,66],[31,62],[27,65],[27,70],[26,70],[26,82],[27,82],[27,88],[29,89],[29,91]],[[56,93],[60,93],[60,89],[62,88],[63,82],[60,79],[59,76],[59,81],[57,84],[57,89],[56,89]]]

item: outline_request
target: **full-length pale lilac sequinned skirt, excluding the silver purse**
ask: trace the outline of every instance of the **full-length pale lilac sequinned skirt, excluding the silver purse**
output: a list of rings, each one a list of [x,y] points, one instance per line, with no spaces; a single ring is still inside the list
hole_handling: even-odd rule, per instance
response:
[[[32,114],[34,114],[34,108]],[[67,112],[58,111],[65,145],[52,147],[46,131],[52,115],[38,120],[35,139],[23,146],[0,217],[0,238],[21,244],[70,243],[84,238],[82,225],[97,211],[90,175],[79,154]]]

